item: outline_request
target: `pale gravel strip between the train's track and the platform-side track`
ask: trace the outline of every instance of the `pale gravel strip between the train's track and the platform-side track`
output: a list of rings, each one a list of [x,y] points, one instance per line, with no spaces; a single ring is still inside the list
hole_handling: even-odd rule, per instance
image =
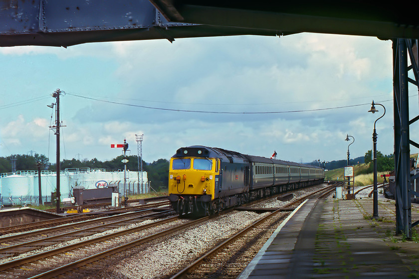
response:
[[[298,190],[294,192],[294,198],[292,200],[324,187],[325,184],[322,184],[320,186]],[[289,203],[289,201],[282,202],[276,200],[276,198],[272,198],[253,206],[280,207],[287,203]],[[101,266],[99,263],[96,270],[91,272],[90,275],[85,275],[84,278],[167,278],[168,275],[176,273],[204,255],[217,243],[220,243],[267,214],[269,213],[258,214],[254,212],[234,211],[217,216],[209,220],[206,224],[179,231],[174,236],[167,236],[159,242],[150,244],[146,249],[142,247],[139,249],[131,249],[125,254],[124,258],[120,261],[115,261],[112,265],[106,265],[99,268],[99,266]],[[268,238],[273,231],[274,229],[268,233]],[[261,244],[262,246],[263,243]],[[253,252],[249,253],[252,254]]]

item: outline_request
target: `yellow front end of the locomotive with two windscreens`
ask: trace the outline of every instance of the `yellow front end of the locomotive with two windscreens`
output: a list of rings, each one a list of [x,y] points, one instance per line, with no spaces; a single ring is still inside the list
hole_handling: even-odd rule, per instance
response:
[[[179,214],[209,214],[219,182],[219,159],[206,157],[200,149],[183,149],[170,159],[169,200]]]

